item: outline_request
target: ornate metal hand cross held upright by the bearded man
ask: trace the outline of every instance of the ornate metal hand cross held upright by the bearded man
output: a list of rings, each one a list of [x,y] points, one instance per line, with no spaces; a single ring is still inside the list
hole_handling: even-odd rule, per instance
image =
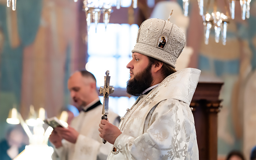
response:
[[[109,75],[109,71],[106,71],[106,76],[104,76],[104,86],[100,87],[100,95],[103,94],[103,108],[102,108],[102,117],[101,119],[108,119],[108,97],[109,94],[112,94],[114,92],[114,87],[113,86],[109,86],[109,81],[110,81],[110,76]],[[102,139],[102,142],[105,144],[107,141]]]

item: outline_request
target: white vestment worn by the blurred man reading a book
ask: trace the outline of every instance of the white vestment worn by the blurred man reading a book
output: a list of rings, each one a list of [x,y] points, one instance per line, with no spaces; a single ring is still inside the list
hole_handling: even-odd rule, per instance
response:
[[[62,147],[54,148],[52,160],[106,160],[112,145],[103,144],[99,134],[102,104],[84,112],[81,111],[75,117],[70,126],[80,134],[76,143],[62,140]],[[108,120],[112,124],[118,124],[119,116],[109,110]]]

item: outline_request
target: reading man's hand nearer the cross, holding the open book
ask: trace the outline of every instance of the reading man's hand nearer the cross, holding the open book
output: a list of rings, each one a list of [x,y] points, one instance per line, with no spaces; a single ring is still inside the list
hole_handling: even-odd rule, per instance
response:
[[[63,127],[56,127],[54,130],[65,140],[71,142],[71,143],[76,143],[76,139],[79,135],[79,132],[77,132],[74,128],[68,127],[68,128],[63,128]]]

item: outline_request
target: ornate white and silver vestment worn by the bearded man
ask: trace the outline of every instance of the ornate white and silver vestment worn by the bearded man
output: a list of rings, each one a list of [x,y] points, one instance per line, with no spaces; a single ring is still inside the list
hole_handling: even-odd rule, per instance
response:
[[[122,132],[108,160],[198,160],[194,117],[189,108],[201,71],[185,68],[140,95],[121,117]]]

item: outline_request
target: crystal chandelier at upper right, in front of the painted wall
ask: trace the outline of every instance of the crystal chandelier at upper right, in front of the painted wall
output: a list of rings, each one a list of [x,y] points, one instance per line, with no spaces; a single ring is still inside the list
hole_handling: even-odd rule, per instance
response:
[[[182,1],[183,1],[184,15],[188,16],[189,0],[182,0]],[[228,23],[230,18],[231,19],[235,18],[236,1],[240,1],[242,20],[245,20],[245,18],[250,17],[251,0],[223,0],[223,1],[225,3],[225,10],[226,10],[225,14],[217,11],[217,0],[213,0],[213,12],[211,13],[209,12],[211,0],[207,0],[206,5],[204,3],[204,0],[197,0],[198,7],[199,7],[199,14],[203,18],[205,44],[209,43],[210,31],[212,28],[214,28],[215,42],[219,43],[220,36],[221,36],[222,44],[226,45]],[[228,11],[228,7],[229,7],[229,11]]]

